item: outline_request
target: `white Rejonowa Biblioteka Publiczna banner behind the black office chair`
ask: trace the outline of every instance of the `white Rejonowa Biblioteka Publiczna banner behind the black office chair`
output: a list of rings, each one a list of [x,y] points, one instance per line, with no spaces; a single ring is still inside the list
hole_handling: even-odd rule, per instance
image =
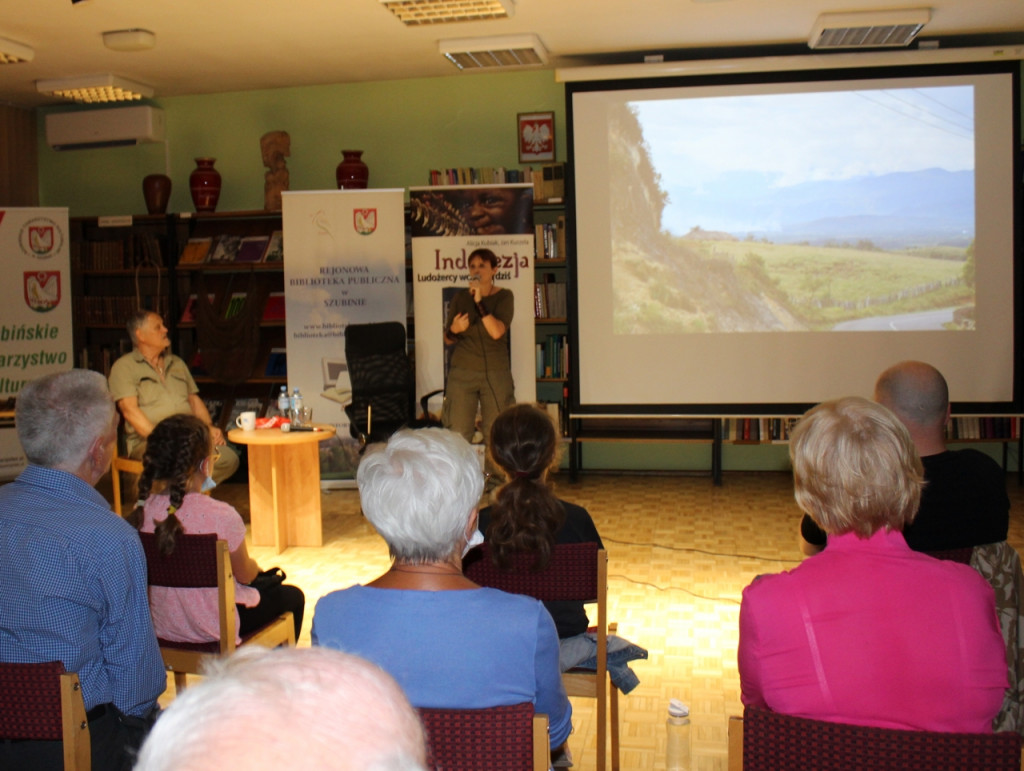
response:
[[[289,392],[298,388],[313,422],[337,428],[321,442],[323,486],[349,486],[358,442],[348,430],[349,324],[406,326],[406,224],[401,189],[282,195],[285,332]]]

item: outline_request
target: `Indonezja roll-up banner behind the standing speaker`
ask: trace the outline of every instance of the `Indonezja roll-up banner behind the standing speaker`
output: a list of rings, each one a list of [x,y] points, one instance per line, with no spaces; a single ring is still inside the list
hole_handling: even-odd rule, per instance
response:
[[[418,394],[444,388],[447,304],[468,286],[469,254],[484,248],[501,260],[495,283],[515,297],[509,328],[515,399],[537,400],[532,212],[529,184],[410,188]],[[430,412],[439,416],[440,408],[438,395]]]

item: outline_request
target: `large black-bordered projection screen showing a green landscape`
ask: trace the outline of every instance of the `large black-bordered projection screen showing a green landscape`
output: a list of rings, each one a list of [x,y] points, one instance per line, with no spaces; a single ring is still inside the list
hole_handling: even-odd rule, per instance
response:
[[[568,84],[572,411],[1020,410],[1018,70]]]

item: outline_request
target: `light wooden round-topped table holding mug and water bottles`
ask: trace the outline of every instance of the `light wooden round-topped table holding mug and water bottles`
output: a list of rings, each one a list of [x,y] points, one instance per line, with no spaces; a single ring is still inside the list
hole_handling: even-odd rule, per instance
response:
[[[323,546],[318,444],[334,426],[315,431],[233,428],[227,438],[249,445],[249,512],[253,546]]]

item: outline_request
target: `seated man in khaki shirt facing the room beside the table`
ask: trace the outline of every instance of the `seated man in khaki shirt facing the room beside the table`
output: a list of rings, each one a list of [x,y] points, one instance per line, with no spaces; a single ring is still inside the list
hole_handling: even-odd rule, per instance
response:
[[[227,479],[239,468],[239,456],[213,425],[188,366],[168,350],[171,341],[164,320],[151,310],[136,311],[128,319],[128,336],[134,349],[111,368],[111,394],[125,417],[128,456],[142,458],[145,437],[164,418],[195,415],[210,426],[217,448],[210,476],[215,482]]]

